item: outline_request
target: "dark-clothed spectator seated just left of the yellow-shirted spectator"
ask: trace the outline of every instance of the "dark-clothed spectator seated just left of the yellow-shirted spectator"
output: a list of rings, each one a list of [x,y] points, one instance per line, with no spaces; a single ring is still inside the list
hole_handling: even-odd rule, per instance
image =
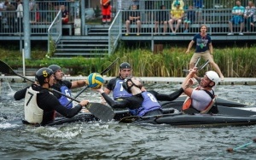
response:
[[[159,25],[164,24],[163,35],[166,35],[167,31],[167,20],[170,17],[169,12],[166,10],[165,5],[160,6],[160,11],[156,13],[155,21],[154,21],[154,35],[158,33]]]

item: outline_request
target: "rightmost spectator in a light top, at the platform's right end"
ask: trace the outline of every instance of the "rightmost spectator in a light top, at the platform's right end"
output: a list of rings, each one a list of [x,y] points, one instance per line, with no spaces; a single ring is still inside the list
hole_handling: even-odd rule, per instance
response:
[[[255,6],[253,4],[253,1],[248,1],[248,5],[243,14],[243,17],[246,21],[247,32],[251,31],[251,23],[253,22],[254,16],[255,16]]]

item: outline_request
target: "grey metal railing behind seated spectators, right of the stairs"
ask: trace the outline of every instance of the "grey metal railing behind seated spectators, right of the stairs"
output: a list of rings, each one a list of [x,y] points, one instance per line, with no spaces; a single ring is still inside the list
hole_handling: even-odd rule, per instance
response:
[[[182,19],[182,23],[177,29],[176,34],[189,34],[189,33],[197,33],[200,30],[201,25],[206,25],[208,27],[208,32],[211,34],[227,34],[230,31],[229,28],[229,20],[232,18],[231,10],[230,9],[204,9],[201,12],[196,12],[195,10],[191,10],[195,14],[195,20],[190,20],[188,24],[188,28],[185,27],[185,20],[188,20],[186,15]],[[140,31],[137,31],[137,22],[134,21],[130,25],[130,31],[126,31],[125,29],[125,21],[128,20],[129,15],[131,12],[134,12],[132,10],[123,10],[122,14],[122,30],[121,33],[125,35],[126,32],[129,32],[129,35],[137,35],[137,32],[139,32],[139,35],[170,35],[172,34],[171,31],[171,18],[170,12],[167,9],[160,10],[160,9],[154,9],[154,10],[143,10],[139,9],[137,12],[140,14],[140,23],[141,23],[141,29]],[[146,14],[149,14],[150,17],[147,19],[145,18]],[[185,12],[186,14],[186,12]],[[256,28],[253,26],[250,26],[249,21],[244,22],[243,32],[250,32],[250,33],[256,33]],[[166,25],[166,32],[163,31],[164,27]],[[177,22],[173,23],[173,28],[175,29],[177,27]],[[234,32],[240,31],[240,24],[233,25]],[[159,29],[158,29],[159,28]],[[186,31],[188,29],[188,31]]]

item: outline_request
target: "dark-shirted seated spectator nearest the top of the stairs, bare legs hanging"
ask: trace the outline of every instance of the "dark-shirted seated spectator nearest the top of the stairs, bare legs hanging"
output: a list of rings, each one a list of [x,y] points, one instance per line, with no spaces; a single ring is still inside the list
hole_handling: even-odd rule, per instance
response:
[[[132,10],[128,13],[128,15],[129,15],[128,20],[125,21],[125,27],[126,27],[125,36],[128,36],[130,34],[130,30],[131,30],[130,26],[132,23],[137,24],[137,36],[139,36],[142,22],[140,20],[140,14],[137,11],[137,5],[133,4],[131,6],[131,9]]]

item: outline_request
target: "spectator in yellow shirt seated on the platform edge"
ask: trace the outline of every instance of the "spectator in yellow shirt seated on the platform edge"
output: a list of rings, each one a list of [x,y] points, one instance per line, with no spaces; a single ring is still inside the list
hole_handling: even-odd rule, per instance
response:
[[[180,3],[177,3],[176,8],[171,10],[171,20],[168,21],[169,26],[172,30],[171,35],[176,34],[180,24],[182,23],[183,15],[184,15],[184,10],[180,9]],[[175,30],[173,29],[173,23],[174,22],[177,22]]]

